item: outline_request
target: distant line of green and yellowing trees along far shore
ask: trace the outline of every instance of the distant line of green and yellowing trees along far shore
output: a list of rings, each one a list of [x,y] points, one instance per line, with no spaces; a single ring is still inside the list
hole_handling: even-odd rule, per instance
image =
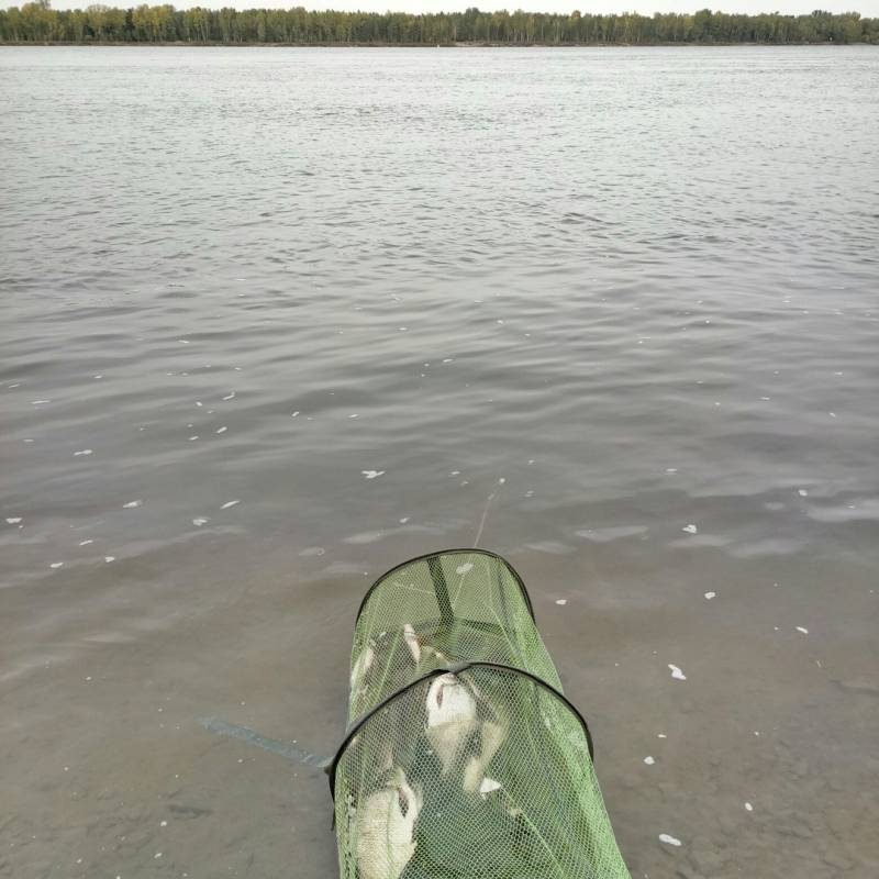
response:
[[[704,9],[694,14],[569,15],[466,12],[310,12],[294,9],[193,9],[140,5],[54,10],[48,0],[0,10],[2,43],[192,43],[242,45],[453,45],[871,43],[879,19],[857,12],[809,15],[733,15]]]

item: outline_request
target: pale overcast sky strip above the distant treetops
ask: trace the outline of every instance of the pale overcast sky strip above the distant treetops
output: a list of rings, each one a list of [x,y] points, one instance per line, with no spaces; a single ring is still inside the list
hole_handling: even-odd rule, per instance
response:
[[[54,9],[85,9],[96,0],[54,0]],[[9,0],[2,5],[22,5],[26,0],[11,3]],[[581,12],[628,12],[635,11],[643,15],[653,15],[654,12],[696,12],[698,9],[715,9],[724,12],[785,12],[794,15],[811,12],[813,9],[826,9],[830,12],[848,12],[852,9],[865,16],[879,16],[879,0],[728,0],[728,2],[712,3],[692,2],[692,0],[597,0],[596,2],[572,3],[570,0],[520,0],[520,2],[504,3],[502,0],[461,0],[461,2],[446,2],[445,0],[104,0],[109,7],[135,7],[142,2],[158,4],[171,2],[178,9],[190,7],[234,7],[235,9],[290,9],[303,5],[305,9],[338,9],[364,10],[366,12],[386,12],[392,9],[396,12],[459,12],[467,7],[478,7],[483,11],[494,9],[524,9],[528,12],[570,12],[579,9]]]

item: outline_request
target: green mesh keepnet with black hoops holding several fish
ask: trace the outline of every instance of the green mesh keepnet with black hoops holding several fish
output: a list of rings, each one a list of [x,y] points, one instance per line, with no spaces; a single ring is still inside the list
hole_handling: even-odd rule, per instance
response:
[[[330,768],[342,879],[630,879],[524,583],[455,549],[380,577]]]

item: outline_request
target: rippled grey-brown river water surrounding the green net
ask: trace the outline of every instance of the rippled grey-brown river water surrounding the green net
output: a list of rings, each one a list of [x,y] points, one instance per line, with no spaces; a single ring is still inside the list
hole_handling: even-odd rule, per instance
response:
[[[878,85],[3,49],[0,877],[334,876],[202,721],[329,754],[364,590],[480,524],[633,877],[876,876]]]

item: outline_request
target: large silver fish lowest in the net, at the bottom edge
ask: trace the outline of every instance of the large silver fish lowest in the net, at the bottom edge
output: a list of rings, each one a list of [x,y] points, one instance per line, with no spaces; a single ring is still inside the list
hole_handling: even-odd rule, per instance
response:
[[[414,830],[421,791],[400,767],[386,787],[357,810],[357,867],[360,879],[398,879],[415,854]]]

